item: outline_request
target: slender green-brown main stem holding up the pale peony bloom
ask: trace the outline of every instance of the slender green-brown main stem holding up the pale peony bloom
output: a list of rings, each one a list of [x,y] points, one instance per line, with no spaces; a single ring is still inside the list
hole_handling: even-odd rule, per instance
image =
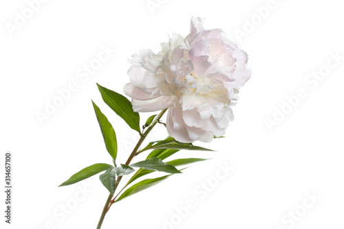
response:
[[[164,113],[166,112],[167,109],[162,110],[158,116],[155,117],[155,119],[153,120],[153,122],[151,123],[151,125],[148,127],[147,131],[144,131],[144,133],[141,134],[140,140],[138,140],[138,144],[136,144],[135,148],[133,149],[133,151],[131,152],[131,154],[128,157],[127,162],[125,162],[126,165],[129,165],[131,160],[133,160],[133,157],[136,156],[136,153],[138,152],[138,149],[140,148],[142,142],[144,141],[144,139],[146,139],[147,135],[149,134],[149,132],[151,132],[151,130],[153,129],[153,127],[155,127],[155,124],[158,123],[158,121],[160,120],[160,118],[164,115]],[[120,184],[120,180],[122,179],[122,177],[117,177],[116,180],[116,184],[115,184],[115,190],[118,187],[118,184]],[[118,193],[119,194],[119,193]],[[109,195],[109,197],[107,198],[107,201],[105,203],[105,206],[103,208],[103,212],[102,215],[100,216],[99,222],[98,222],[98,226],[97,229],[100,229],[102,226],[102,223],[104,221],[105,215],[107,214],[107,211],[110,209],[111,205],[114,204],[115,199],[112,199],[113,195]],[[112,200],[111,200],[112,199]]]

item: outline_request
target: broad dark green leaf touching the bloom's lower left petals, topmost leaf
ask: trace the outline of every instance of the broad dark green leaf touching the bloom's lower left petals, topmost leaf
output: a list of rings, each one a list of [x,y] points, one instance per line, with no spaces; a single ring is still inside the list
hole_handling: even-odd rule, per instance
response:
[[[97,86],[104,102],[115,111],[120,118],[125,120],[131,129],[140,133],[140,115],[138,112],[133,111],[131,102],[125,98],[125,96],[102,87],[98,85],[98,83]]]

